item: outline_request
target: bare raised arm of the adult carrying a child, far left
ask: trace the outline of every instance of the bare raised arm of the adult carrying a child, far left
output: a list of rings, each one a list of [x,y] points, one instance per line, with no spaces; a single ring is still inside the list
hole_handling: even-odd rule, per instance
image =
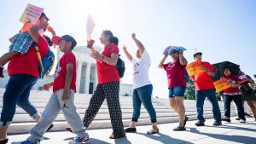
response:
[[[41,29],[44,29],[46,26],[48,26],[48,22],[47,21],[44,21],[42,22],[41,24],[39,25],[36,25],[36,26],[32,26],[28,32],[30,34],[30,36],[32,37],[32,40],[35,42],[35,43],[38,43],[39,42],[39,30]]]

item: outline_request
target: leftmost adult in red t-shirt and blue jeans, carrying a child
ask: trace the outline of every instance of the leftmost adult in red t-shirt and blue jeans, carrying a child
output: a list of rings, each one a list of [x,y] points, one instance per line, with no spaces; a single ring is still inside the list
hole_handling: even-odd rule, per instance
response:
[[[40,25],[32,26],[28,32],[34,43],[37,43],[39,52],[44,58],[48,51],[48,43],[39,31],[48,25],[47,21]],[[15,115],[16,105],[24,109],[32,118],[38,122],[39,113],[29,101],[32,86],[36,84],[39,77],[38,55],[33,46],[25,55],[17,55],[9,61],[9,82],[3,94],[3,109],[0,120],[0,143],[7,143],[7,130]]]

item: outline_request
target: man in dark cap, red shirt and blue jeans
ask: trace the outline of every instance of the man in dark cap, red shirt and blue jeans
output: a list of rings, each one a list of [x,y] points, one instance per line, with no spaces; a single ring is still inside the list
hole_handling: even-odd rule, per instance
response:
[[[201,52],[194,54],[194,60],[201,61]],[[195,123],[196,126],[204,126],[205,118],[203,118],[203,106],[206,97],[212,103],[212,112],[214,123],[213,125],[221,125],[221,113],[218,107],[218,101],[216,98],[215,87],[213,85],[212,77],[214,75],[214,68],[207,61],[201,61],[201,69],[204,72],[191,76],[190,78],[194,80],[195,84],[195,99],[196,99],[196,109],[197,109],[197,119],[198,122]]]

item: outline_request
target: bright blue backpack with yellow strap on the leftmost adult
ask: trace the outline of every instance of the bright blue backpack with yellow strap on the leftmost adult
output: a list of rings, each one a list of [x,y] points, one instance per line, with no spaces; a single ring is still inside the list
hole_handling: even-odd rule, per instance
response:
[[[42,60],[38,45],[36,43],[33,43],[32,45],[37,50],[39,78],[43,79],[49,74],[55,64],[55,54],[50,49],[48,49],[44,59]]]

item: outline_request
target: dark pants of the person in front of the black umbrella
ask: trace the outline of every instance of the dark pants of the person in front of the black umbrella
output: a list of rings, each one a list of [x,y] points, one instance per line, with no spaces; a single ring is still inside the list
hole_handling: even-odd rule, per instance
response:
[[[241,95],[224,95],[224,116],[230,118],[231,101],[236,103],[238,118],[245,119],[244,108],[241,102]]]

